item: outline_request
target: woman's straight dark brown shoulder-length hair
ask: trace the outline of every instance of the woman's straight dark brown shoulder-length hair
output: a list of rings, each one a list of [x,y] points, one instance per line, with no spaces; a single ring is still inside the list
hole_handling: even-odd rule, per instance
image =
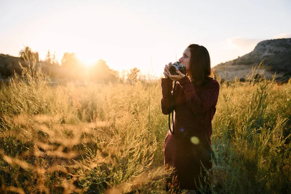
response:
[[[210,80],[211,67],[210,56],[208,50],[196,44],[188,46],[191,51],[190,58],[190,80],[194,85],[197,81],[202,81],[202,84],[206,84]]]

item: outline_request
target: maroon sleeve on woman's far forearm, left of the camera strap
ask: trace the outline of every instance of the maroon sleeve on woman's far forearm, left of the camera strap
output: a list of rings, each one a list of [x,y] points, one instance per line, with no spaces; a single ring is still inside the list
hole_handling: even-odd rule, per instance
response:
[[[161,108],[163,114],[172,113],[174,110],[174,97],[172,94],[173,81],[168,78],[162,78],[162,100]]]

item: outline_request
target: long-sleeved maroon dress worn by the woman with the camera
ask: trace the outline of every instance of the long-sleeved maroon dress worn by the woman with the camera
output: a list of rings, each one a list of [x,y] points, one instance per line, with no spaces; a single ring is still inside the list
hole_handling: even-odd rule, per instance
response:
[[[170,131],[164,141],[164,166],[175,167],[180,189],[197,190],[199,175],[212,167],[210,136],[211,121],[216,111],[219,82],[209,78],[206,84],[195,85],[187,76],[177,81],[173,97],[173,81],[162,78],[162,113],[173,111],[175,99],[174,134]],[[170,90],[170,93],[169,93]],[[170,104],[169,104],[170,103]],[[201,164],[202,163],[202,164]]]

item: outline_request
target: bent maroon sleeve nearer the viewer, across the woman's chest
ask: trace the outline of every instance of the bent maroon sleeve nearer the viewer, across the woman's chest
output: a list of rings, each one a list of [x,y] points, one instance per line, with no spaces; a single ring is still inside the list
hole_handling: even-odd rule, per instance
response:
[[[194,85],[187,76],[179,80],[186,96],[186,101],[194,114],[201,114],[216,106],[219,95],[219,82],[211,80],[200,96],[197,96]]]

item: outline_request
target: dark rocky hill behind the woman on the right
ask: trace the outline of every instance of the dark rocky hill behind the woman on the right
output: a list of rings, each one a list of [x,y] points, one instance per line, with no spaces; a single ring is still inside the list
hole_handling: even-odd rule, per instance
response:
[[[215,72],[225,81],[235,77],[240,79],[251,72],[252,66],[264,60],[266,78],[270,79],[276,72],[276,81],[286,82],[291,77],[291,38],[264,40],[255,49],[235,60],[216,65]]]

